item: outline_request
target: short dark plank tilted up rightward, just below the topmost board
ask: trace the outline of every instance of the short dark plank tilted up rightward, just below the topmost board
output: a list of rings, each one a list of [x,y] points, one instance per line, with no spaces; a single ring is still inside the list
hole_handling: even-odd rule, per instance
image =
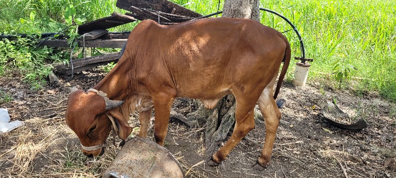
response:
[[[112,27],[116,27],[119,25],[134,22],[134,21],[136,21],[136,19],[131,16],[113,12],[111,14],[111,16],[109,16],[109,17],[104,17],[104,18],[101,18],[101,19],[98,19],[98,20],[78,26],[78,32],[80,34],[84,34],[84,33],[91,32],[96,29],[109,29]]]

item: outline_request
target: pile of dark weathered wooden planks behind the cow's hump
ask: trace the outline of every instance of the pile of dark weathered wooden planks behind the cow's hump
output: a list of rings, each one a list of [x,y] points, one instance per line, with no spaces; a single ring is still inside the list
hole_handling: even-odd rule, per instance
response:
[[[82,39],[77,41],[79,47],[121,48],[130,32],[108,32],[107,29],[135,22],[152,19],[159,24],[170,25],[189,21],[202,15],[168,0],[117,0],[116,6],[130,11],[124,14],[112,13],[111,16],[80,25],[78,31]],[[67,40],[43,40],[41,46],[69,47]],[[118,61],[119,53],[75,59],[72,64],[52,64],[56,74],[65,76],[87,69]]]

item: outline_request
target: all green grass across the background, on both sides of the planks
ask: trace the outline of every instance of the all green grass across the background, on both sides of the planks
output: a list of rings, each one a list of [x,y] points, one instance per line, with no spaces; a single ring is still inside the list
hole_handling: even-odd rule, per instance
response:
[[[77,16],[92,21],[111,12],[124,13],[115,7],[116,0],[70,0]],[[218,0],[171,0],[200,14],[217,11]],[[67,0],[0,0],[0,33],[55,32],[62,24]],[[220,2],[222,10],[224,0]],[[13,4],[13,5],[9,5]],[[352,89],[357,95],[378,92],[396,102],[396,1],[395,0],[262,0],[260,7],[280,12],[300,32],[307,58],[311,62],[309,80],[323,79],[340,66],[354,66],[349,80],[341,89]],[[29,14],[35,11],[32,22]],[[26,19],[25,24],[19,19]],[[264,25],[280,32],[291,27],[281,18],[262,11]],[[131,30],[134,24],[122,25],[110,31]],[[28,30],[27,30],[28,29]],[[300,56],[299,42],[293,31],[284,33],[291,42],[293,56]],[[1,72],[0,68],[0,72]],[[290,66],[287,79],[293,76]],[[334,79],[334,87],[338,82]]]

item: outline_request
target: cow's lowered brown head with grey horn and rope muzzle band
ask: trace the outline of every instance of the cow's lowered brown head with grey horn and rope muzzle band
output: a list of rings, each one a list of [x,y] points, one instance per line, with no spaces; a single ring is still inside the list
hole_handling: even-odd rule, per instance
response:
[[[88,157],[104,153],[105,141],[111,127],[125,141],[132,128],[118,112],[117,107],[124,102],[110,100],[106,94],[95,89],[84,92],[72,89],[67,101],[66,124],[77,134],[81,150]]]

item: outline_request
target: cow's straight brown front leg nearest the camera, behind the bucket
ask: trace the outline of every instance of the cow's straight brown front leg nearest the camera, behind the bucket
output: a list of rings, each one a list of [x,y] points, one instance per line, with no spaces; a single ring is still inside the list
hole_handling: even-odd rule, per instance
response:
[[[152,100],[154,102],[154,113],[155,113],[155,120],[154,120],[155,142],[163,146],[168,131],[170,109],[172,107],[174,96],[166,93],[161,93],[157,96],[152,96]]]

